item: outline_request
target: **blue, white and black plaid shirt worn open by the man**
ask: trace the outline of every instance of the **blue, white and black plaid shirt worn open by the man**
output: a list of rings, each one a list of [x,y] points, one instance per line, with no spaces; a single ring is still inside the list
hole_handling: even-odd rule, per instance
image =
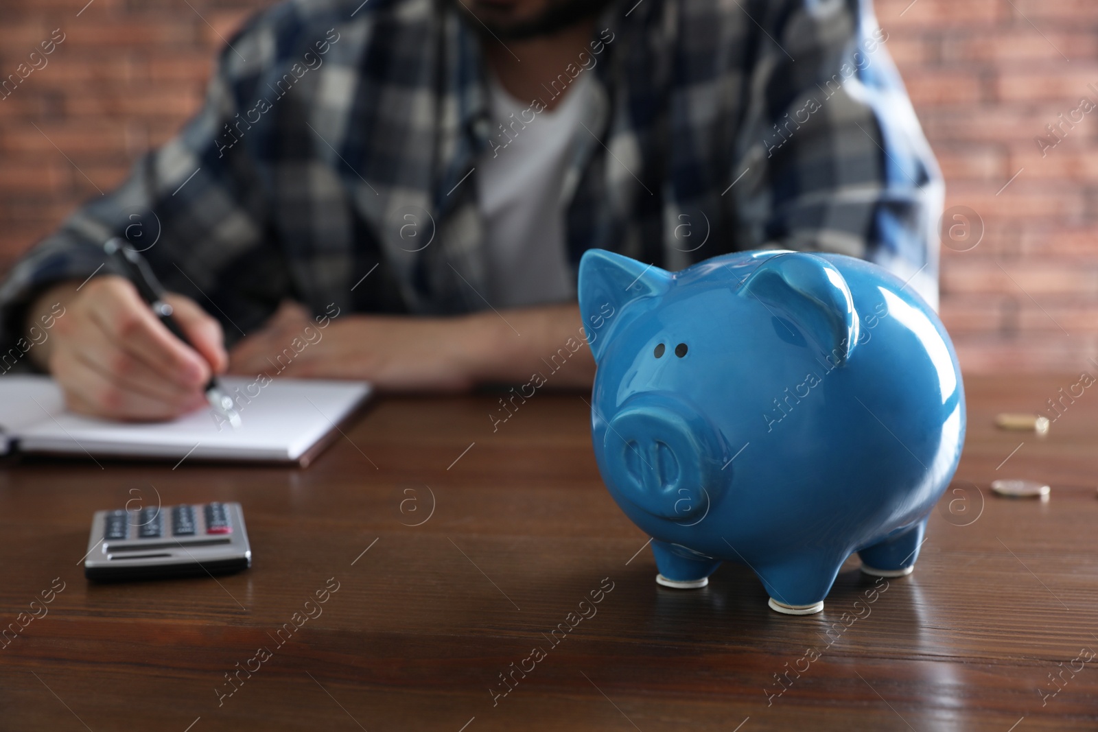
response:
[[[474,168],[506,131],[473,25],[452,0],[292,0],[253,18],[178,136],[18,262],[3,348],[43,286],[111,271],[111,236],[229,342],[283,297],[488,307]],[[943,187],[884,37],[869,0],[613,3],[545,85],[548,99],[594,76],[562,193],[573,274],[591,247],[672,270],[826,250],[915,275],[937,304]]]

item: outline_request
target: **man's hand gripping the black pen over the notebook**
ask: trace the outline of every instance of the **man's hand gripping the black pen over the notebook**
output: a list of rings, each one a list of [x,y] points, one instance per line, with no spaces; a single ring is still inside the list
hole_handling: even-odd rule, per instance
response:
[[[165,297],[194,345],[176,338],[127,280],[103,275],[51,288],[30,307],[27,322],[55,303],[65,306],[51,338],[31,350],[65,393],[74,412],[127,420],[171,419],[206,403],[203,386],[224,371],[221,325],[182,295]]]

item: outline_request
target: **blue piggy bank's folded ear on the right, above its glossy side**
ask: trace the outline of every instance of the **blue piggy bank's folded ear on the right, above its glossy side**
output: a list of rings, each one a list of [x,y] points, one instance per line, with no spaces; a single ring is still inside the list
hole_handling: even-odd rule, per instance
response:
[[[759,300],[774,315],[792,320],[837,364],[845,363],[854,350],[854,299],[839,270],[822,257],[771,257],[748,277],[739,294]]]

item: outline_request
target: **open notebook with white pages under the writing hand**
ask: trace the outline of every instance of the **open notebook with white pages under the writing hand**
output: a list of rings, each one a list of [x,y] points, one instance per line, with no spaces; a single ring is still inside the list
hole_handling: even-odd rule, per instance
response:
[[[371,393],[360,381],[276,379],[259,388],[254,379],[222,378],[237,397],[242,426],[219,428],[210,409],[168,423],[117,423],[65,409],[60,390],[48,376],[0,378],[0,452],[205,458],[309,464],[337,425]],[[250,391],[247,388],[250,385]],[[234,391],[239,387],[239,391]],[[247,395],[259,393],[249,398]],[[240,397],[239,395],[245,395]]]

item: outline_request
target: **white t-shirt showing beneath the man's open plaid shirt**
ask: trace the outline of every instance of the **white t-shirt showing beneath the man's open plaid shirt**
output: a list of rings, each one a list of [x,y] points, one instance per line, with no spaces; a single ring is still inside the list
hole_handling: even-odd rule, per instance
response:
[[[539,113],[494,78],[489,83],[494,142],[477,164],[477,199],[488,257],[485,299],[493,307],[574,295],[560,199],[575,136],[587,134],[580,125],[591,93],[587,76],[576,77],[554,110]]]

